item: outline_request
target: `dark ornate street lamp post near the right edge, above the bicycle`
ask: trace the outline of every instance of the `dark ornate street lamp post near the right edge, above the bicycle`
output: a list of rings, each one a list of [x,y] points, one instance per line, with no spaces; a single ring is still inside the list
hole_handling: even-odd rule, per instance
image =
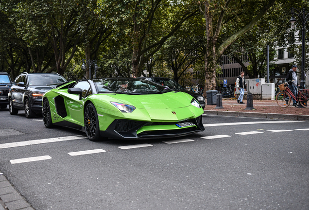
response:
[[[305,40],[306,40],[306,22],[309,19],[309,14],[305,11],[305,8],[303,9],[303,12],[300,12],[297,9],[294,9],[294,7],[291,8],[292,18],[290,19],[290,22],[292,24],[292,29],[294,29],[294,23],[296,22],[296,19],[294,18],[294,15],[296,15],[302,22],[302,75],[301,75],[301,81],[300,81],[300,89],[306,89],[305,84]]]

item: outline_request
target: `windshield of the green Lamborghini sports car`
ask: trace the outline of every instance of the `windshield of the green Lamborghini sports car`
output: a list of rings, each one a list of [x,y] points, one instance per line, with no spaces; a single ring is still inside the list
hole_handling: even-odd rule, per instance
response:
[[[151,81],[138,78],[105,78],[93,80],[99,93],[150,94],[165,93],[171,90]]]

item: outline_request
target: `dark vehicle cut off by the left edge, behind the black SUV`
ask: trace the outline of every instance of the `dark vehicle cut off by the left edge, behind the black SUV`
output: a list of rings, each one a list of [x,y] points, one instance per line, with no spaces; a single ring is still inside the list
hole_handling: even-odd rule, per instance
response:
[[[9,104],[8,94],[12,86],[11,77],[7,72],[0,72],[0,108],[6,108]]]

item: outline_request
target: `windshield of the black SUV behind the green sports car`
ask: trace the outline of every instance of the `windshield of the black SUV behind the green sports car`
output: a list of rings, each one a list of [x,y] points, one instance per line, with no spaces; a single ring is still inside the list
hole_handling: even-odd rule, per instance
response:
[[[56,85],[67,82],[65,78],[58,74],[33,74],[28,75],[28,80],[30,86]]]

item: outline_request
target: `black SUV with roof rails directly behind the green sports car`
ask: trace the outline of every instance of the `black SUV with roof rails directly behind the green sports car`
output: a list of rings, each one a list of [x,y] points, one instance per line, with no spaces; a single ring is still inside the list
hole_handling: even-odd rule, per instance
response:
[[[25,110],[26,118],[42,113],[44,93],[65,82],[58,73],[21,73],[9,91],[10,114],[16,115],[19,109]]]

